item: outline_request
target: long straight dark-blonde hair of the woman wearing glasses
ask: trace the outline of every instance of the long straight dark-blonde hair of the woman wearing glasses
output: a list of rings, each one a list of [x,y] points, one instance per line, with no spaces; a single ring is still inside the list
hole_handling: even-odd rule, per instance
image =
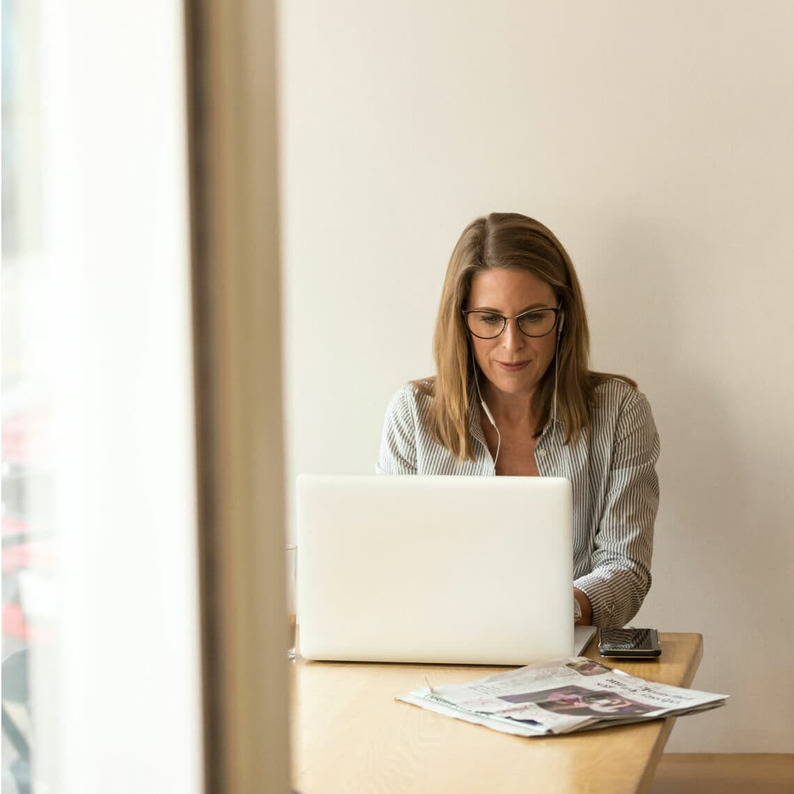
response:
[[[595,387],[619,377],[589,368],[590,331],[584,299],[568,253],[542,223],[515,213],[491,213],[477,218],[461,234],[452,252],[441,291],[433,350],[436,376],[414,381],[433,396],[430,434],[459,461],[474,460],[469,433],[469,410],[474,363],[468,330],[461,310],[472,278],[488,268],[526,270],[548,283],[565,312],[565,326],[557,349],[557,416],[565,423],[565,443],[576,443],[592,422]],[[549,421],[554,391],[554,367],[549,366],[534,395],[538,430]]]

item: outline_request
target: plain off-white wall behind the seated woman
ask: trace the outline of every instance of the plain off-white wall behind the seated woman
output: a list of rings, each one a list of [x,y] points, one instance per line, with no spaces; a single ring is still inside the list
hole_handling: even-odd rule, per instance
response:
[[[661,434],[635,623],[702,632],[695,685],[731,695],[668,749],[790,752],[794,5],[303,0],[281,25],[290,480],[372,471],[464,225],[539,218],[595,368]]]

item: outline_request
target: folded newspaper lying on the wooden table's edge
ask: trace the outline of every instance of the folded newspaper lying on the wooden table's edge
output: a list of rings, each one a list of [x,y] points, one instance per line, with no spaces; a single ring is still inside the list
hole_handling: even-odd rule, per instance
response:
[[[544,661],[397,698],[517,736],[569,734],[722,706],[727,695],[654,684],[587,657]]]

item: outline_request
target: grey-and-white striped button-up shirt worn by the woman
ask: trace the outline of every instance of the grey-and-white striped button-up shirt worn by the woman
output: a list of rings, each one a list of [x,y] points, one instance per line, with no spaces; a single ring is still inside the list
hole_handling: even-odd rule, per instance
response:
[[[495,464],[472,400],[469,429],[475,461],[457,461],[430,436],[432,397],[411,384],[386,412],[380,474],[495,476]],[[646,396],[611,379],[595,389],[592,426],[565,445],[565,426],[549,419],[535,446],[541,476],[573,486],[573,585],[590,599],[594,626],[624,626],[651,584],[653,522],[659,506],[659,436]]]

